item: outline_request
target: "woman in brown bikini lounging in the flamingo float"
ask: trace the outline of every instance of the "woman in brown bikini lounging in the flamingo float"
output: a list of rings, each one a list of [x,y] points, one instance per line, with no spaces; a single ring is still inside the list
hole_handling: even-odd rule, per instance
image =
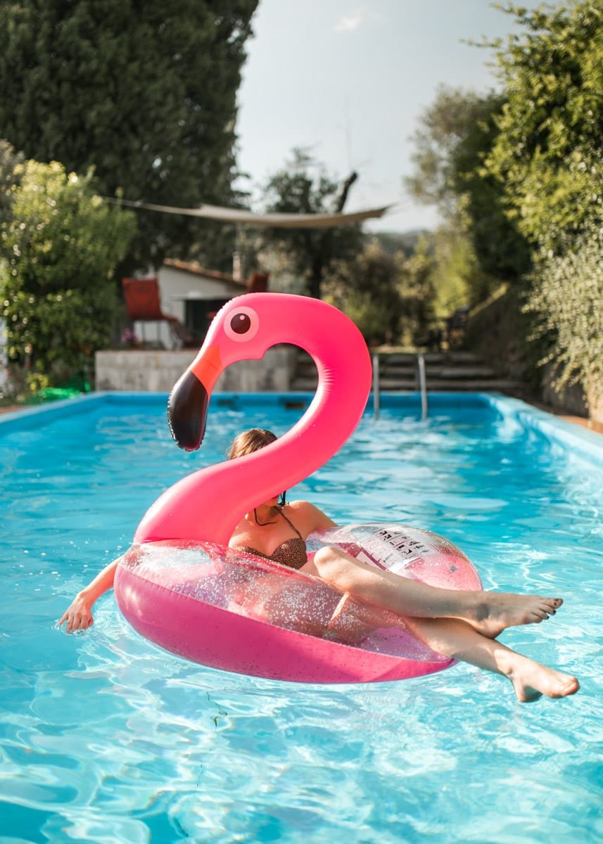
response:
[[[244,431],[232,443],[228,456],[251,454],[275,440],[269,430]],[[367,618],[378,618],[379,611],[401,617],[400,625],[410,628],[432,650],[508,677],[518,701],[535,701],[541,695],[560,698],[579,690],[575,677],[536,663],[497,641],[508,627],[539,624],[555,615],[561,598],[431,587],[375,569],[330,546],[308,559],[307,537],[329,527],[336,527],[335,523],[310,502],[286,503],[274,496],[242,517],[229,546],[318,577],[342,596],[367,606],[359,625],[366,624]],[[69,633],[92,625],[92,607],[112,587],[121,559],[107,565],[79,592],[59,625],[67,622]],[[353,636],[354,630],[343,630],[341,635]]]

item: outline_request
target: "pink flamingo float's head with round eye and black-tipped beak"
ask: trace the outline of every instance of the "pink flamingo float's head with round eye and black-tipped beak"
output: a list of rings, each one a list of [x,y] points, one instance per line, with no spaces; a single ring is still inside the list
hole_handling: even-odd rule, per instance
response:
[[[211,390],[227,366],[259,360],[275,344],[300,344],[304,328],[333,307],[306,296],[251,293],[236,296],[215,315],[204,344],[177,381],[168,401],[171,436],[193,452],[203,441]],[[318,318],[318,323],[322,322]]]

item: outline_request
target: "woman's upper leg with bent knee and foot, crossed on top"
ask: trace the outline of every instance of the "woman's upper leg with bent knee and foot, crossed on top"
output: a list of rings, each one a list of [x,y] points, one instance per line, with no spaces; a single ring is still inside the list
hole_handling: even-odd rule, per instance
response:
[[[331,547],[317,551],[303,571],[353,598],[405,617],[464,619],[492,639],[507,627],[537,624],[554,615],[562,604],[561,598],[540,595],[439,589],[373,568]]]

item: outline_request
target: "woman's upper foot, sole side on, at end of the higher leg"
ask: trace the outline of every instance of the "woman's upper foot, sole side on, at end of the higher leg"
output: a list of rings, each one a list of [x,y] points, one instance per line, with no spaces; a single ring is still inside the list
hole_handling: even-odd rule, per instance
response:
[[[496,639],[508,627],[540,624],[563,603],[562,598],[512,592],[472,592],[471,596],[470,606],[460,617],[488,639]]]

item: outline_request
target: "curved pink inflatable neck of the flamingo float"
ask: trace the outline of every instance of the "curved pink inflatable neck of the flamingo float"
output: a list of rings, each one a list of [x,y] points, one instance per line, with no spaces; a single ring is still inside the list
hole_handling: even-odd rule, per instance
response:
[[[303,344],[296,341],[318,369],[317,392],[296,425],[258,452],[178,481],[151,506],[135,542],[185,538],[227,545],[242,517],[339,451],[361,419],[372,369],[353,323],[345,318],[336,329],[315,332]]]

